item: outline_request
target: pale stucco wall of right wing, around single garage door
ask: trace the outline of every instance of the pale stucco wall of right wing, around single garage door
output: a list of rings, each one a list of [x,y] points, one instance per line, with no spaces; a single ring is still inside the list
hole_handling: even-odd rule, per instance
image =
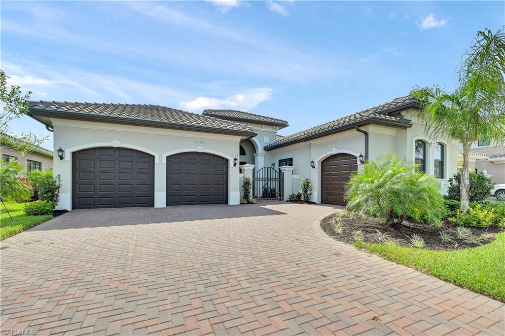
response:
[[[426,142],[426,173],[434,174],[434,153],[438,143],[444,145],[444,178],[439,179],[441,192],[447,190],[448,178],[457,171],[458,144],[445,138],[436,138],[425,132],[425,127],[418,118],[418,111],[409,109],[402,111],[406,119],[411,119],[412,127],[402,129],[381,125],[366,125],[361,129],[369,133],[369,158],[376,159],[394,152],[400,158],[405,158],[409,164],[414,164],[414,143],[417,139]],[[277,163],[279,159],[293,158],[293,187],[296,193],[299,182],[309,178],[313,187],[313,202],[321,203],[321,172],[320,164],[327,157],[337,153],[348,153],[358,157],[365,153],[365,135],[357,130],[323,136],[309,141],[293,143],[267,151],[265,165]],[[312,168],[310,162],[315,162]],[[361,164],[357,159],[358,169]]]

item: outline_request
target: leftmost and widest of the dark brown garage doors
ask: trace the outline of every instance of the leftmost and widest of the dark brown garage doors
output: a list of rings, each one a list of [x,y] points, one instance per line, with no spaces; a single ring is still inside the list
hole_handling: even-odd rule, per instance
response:
[[[154,156],[125,148],[72,154],[72,209],[153,207]]]

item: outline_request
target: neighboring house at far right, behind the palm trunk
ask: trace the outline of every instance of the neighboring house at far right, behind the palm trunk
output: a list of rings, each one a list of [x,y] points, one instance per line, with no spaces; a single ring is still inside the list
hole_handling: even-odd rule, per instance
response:
[[[502,145],[491,145],[489,141],[478,140],[471,146],[470,169],[486,172],[491,175],[495,184],[505,183],[505,142]],[[475,150],[475,151],[474,151]],[[461,143],[458,151],[459,160],[463,160]]]

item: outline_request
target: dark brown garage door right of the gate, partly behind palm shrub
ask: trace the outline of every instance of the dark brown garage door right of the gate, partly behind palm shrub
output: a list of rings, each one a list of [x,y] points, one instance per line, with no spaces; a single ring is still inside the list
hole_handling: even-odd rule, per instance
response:
[[[322,203],[345,205],[345,190],[350,174],[358,170],[357,157],[335,154],[321,163]]]

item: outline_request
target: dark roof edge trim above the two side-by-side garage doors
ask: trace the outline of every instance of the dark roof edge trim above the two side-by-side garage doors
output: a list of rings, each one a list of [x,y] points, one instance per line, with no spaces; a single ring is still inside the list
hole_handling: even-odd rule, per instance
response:
[[[114,120],[120,124],[127,124],[127,125],[151,126],[151,127],[158,127],[158,128],[170,128],[170,129],[182,129],[182,130],[189,130],[189,131],[201,131],[201,132],[208,132],[208,133],[219,133],[219,134],[230,134],[230,135],[251,135],[251,136],[257,135],[257,133],[249,132],[249,131],[236,131],[236,130],[226,130],[226,129],[220,129],[220,128],[205,127],[205,126],[182,125],[182,124],[167,123],[167,122],[161,122],[161,121],[155,121],[155,120],[138,120],[138,119],[130,119],[130,118],[98,116],[98,115],[88,115],[88,114],[80,115],[75,112],[65,112],[65,111],[55,111],[55,112],[58,112],[58,114],[56,114],[54,112],[49,112],[44,109],[30,108],[30,112],[28,112],[28,115],[31,116],[33,119],[43,123],[44,125],[47,125],[47,124],[37,118],[34,118],[33,115],[43,116],[43,117],[52,117],[52,118],[62,118],[62,119],[87,120],[87,121]]]

